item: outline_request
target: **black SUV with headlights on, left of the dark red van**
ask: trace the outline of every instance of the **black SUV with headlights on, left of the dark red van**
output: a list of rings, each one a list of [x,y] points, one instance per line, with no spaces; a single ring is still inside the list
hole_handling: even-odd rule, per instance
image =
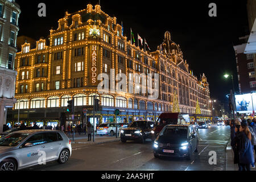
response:
[[[147,138],[151,139],[154,124],[148,121],[134,121],[129,127],[120,131],[121,141],[125,143],[127,140],[139,140],[144,143]]]

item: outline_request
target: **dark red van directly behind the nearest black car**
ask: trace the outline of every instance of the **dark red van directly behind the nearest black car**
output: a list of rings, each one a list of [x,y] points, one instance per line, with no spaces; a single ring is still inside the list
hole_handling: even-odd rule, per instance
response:
[[[188,114],[180,113],[162,113],[159,115],[158,121],[152,131],[152,140],[154,141],[163,128],[167,125],[173,124],[187,124],[190,123]]]

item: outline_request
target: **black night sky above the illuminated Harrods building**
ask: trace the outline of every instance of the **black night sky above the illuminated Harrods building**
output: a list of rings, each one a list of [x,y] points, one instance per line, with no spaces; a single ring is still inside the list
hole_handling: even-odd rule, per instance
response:
[[[38,40],[49,35],[51,27],[57,28],[57,20],[65,11],[75,13],[93,6],[98,1],[61,0],[16,0],[22,13],[19,18],[19,36],[26,35]],[[38,4],[47,6],[47,17],[38,16]],[[69,3],[67,3],[69,2]],[[168,2],[168,3],[167,3]],[[217,17],[209,17],[209,3],[217,4]],[[237,71],[233,45],[240,36],[248,34],[246,0],[204,0],[204,1],[110,1],[101,0],[101,9],[125,28],[130,40],[130,27],[135,34],[146,38],[151,51],[155,51],[164,39],[164,32],[170,31],[172,40],[180,44],[184,59],[194,75],[200,78],[205,73],[210,84],[210,95],[214,99],[226,100],[232,89],[232,82],[225,80],[224,73],[234,73],[236,90]]]

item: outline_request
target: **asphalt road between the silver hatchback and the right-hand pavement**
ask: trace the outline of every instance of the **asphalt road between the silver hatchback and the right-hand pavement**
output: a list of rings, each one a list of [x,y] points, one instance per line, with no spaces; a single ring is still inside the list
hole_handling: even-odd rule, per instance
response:
[[[226,145],[230,138],[230,127],[211,126],[199,129],[199,152],[192,160],[156,159],[152,142],[112,142],[98,144],[72,151],[66,164],[47,163],[25,170],[32,171],[225,171]],[[209,152],[216,151],[217,164],[210,165]]]

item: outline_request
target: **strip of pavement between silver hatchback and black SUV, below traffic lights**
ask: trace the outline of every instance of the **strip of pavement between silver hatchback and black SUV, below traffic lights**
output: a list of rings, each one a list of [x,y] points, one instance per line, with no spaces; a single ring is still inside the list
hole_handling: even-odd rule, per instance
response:
[[[116,138],[116,137],[99,137],[98,135],[95,136],[95,142],[93,142],[93,136],[92,136],[92,141],[88,142],[88,135],[76,136],[75,142],[73,142],[72,137],[70,137],[70,139],[71,139],[72,149],[92,146],[94,144],[102,144],[102,143],[120,141],[119,137],[118,138]]]

